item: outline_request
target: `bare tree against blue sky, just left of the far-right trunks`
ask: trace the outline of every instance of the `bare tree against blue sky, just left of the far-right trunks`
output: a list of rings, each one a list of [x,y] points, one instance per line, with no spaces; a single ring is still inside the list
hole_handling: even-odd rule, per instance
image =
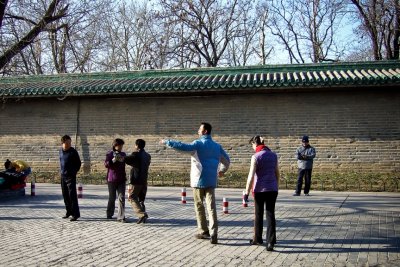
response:
[[[340,57],[335,34],[344,15],[342,0],[270,0],[269,7],[269,28],[285,47],[291,63]]]

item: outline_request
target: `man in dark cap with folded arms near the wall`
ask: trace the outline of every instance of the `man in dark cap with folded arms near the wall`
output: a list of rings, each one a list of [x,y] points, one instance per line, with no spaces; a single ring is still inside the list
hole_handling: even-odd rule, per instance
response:
[[[310,146],[308,136],[305,135],[301,139],[302,146],[296,150],[297,165],[299,167],[299,175],[297,178],[296,192],[293,196],[300,196],[301,187],[303,186],[303,177],[305,180],[304,184],[304,195],[309,196],[311,187],[311,173],[313,160],[315,158],[315,149]]]

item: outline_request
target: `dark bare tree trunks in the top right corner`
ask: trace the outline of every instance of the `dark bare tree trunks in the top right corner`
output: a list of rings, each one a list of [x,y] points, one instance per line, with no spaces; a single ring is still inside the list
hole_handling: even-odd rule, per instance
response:
[[[399,59],[400,1],[351,0],[362,21],[359,32],[368,35],[375,60]]]

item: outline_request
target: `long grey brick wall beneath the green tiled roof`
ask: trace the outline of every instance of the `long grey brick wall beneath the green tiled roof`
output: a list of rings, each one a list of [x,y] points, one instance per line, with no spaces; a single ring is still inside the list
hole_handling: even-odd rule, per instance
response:
[[[400,95],[382,89],[182,97],[121,97],[7,100],[0,120],[0,159],[23,159],[36,171],[58,169],[60,137],[71,135],[84,172],[104,171],[112,140],[147,141],[152,170],[185,171],[189,156],[165,149],[161,138],[190,142],[200,122],[247,171],[255,134],[279,154],[281,169],[295,170],[300,137],[317,150],[315,171],[400,170]]]

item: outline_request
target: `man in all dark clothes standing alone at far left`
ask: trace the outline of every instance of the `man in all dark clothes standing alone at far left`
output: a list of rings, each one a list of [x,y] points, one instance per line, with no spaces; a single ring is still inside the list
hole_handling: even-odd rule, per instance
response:
[[[78,152],[71,146],[71,137],[64,135],[61,137],[62,148],[59,151],[60,172],[61,172],[61,191],[64,198],[65,209],[67,210],[63,219],[76,221],[81,216],[78,205],[78,195],[76,193],[76,174],[81,168],[81,159]]]

